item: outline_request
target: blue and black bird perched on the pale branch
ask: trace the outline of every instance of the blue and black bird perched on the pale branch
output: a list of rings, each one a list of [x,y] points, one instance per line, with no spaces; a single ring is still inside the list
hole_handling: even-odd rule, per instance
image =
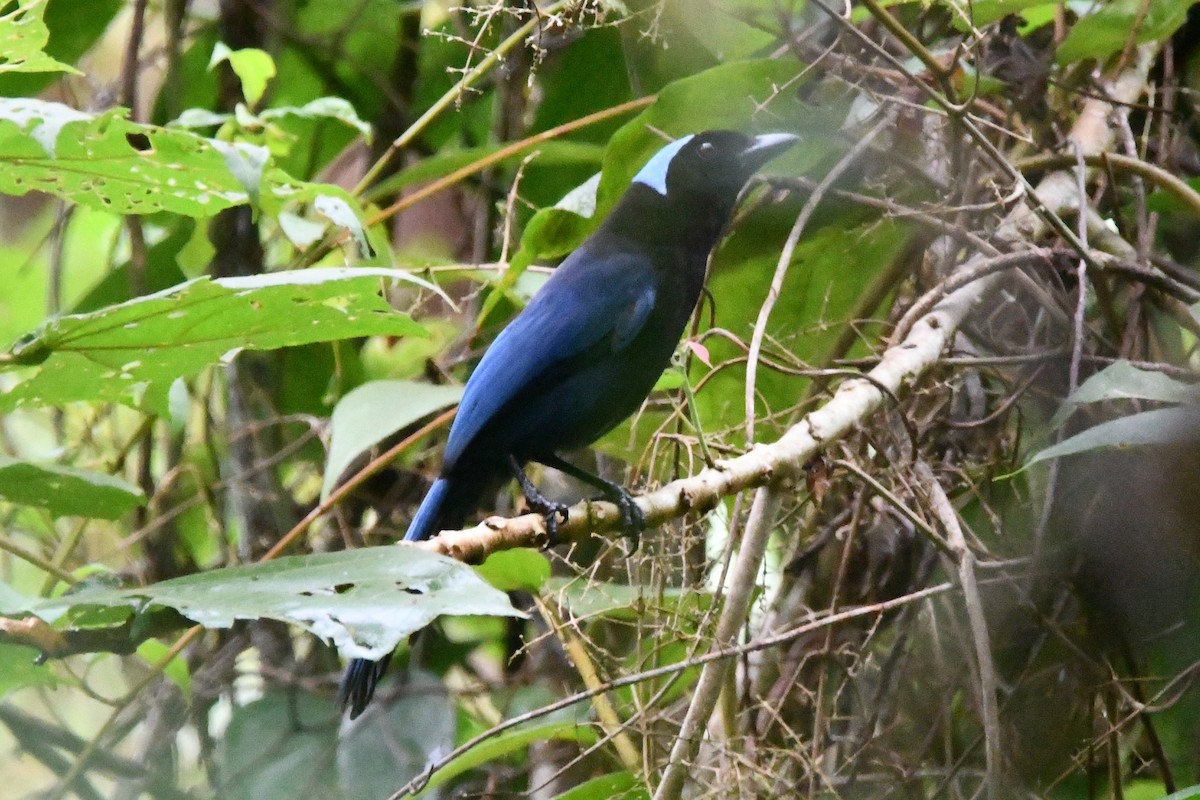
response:
[[[533,462],[599,488],[626,529],[644,521],[618,483],[559,453],[631,415],[671,361],[703,290],[708,258],[750,178],[791,148],[791,133],[704,131],[655,152],[596,230],[553,271],[467,380],[442,469],[406,541],[461,528],[487,493],[515,477],[554,541],[566,506],[524,474]],[[354,658],[338,688],[359,716],[391,656]]]

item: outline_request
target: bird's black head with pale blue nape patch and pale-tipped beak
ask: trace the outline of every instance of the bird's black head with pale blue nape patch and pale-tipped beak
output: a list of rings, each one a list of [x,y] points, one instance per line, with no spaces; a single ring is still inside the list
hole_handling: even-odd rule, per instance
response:
[[[736,131],[704,131],[659,150],[634,178],[668,203],[715,204],[732,210],[754,173],[797,142],[790,133],[750,137]]]

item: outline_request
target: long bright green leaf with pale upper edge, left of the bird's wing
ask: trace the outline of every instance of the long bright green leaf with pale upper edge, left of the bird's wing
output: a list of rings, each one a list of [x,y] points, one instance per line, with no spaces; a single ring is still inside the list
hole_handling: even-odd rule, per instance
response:
[[[240,349],[272,350],[377,333],[424,336],[419,324],[380,296],[389,279],[433,289],[400,270],[319,267],[197,278],[100,311],[60,317],[11,349],[8,363],[32,369],[0,393],[0,410],[92,401],[163,414],[173,380]]]

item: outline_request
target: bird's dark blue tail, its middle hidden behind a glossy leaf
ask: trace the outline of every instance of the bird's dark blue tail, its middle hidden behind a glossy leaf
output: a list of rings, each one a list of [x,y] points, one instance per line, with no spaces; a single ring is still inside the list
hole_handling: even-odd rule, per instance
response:
[[[503,475],[503,474],[502,474]],[[480,498],[497,482],[491,475],[439,477],[433,481],[413,522],[404,534],[406,542],[419,542],[443,531],[461,528],[463,519],[479,505]],[[391,654],[379,661],[353,658],[337,687],[337,702],[350,709],[350,718],[362,714],[376,687],[388,672]]]

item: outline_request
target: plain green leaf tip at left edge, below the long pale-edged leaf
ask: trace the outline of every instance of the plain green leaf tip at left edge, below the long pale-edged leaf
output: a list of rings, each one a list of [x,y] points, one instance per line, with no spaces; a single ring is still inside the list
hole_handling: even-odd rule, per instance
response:
[[[0,498],[55,517],[98,519],[116,519],[145,503],[142,489],[119,477],[5,455],[0,455]]]

